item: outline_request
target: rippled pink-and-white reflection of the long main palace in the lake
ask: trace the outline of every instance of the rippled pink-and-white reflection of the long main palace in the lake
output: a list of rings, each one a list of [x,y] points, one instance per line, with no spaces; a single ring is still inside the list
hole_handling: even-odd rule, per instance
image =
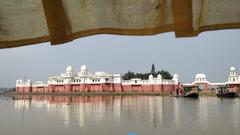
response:
[[[169,97],[148,96],[15,96],[15,110],[19,113],[31,108],[45,109],[48,115],[56,115],[65,126],[78,122],[80,127],[88,120],[151,121],[153,128],[159,125],[169,127],[168,117],[179,117],[177,101]],[[164,99],[164,100],[163,100]],[[164,103],[167,102],[167,103]],[[176,112],[174,112],[174,110]],[[171,113],[170,113],[171,112]],[[177,121],[176,121],[177,120]],[[179,122],[178,122],[179,123]]]

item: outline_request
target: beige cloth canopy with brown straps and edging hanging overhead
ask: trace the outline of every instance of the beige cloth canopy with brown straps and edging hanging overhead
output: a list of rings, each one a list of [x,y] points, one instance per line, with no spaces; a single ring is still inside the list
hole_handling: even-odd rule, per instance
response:
[[[0,0],[0,48],[93,34],[176,37],[240,28],[240,0]]]

